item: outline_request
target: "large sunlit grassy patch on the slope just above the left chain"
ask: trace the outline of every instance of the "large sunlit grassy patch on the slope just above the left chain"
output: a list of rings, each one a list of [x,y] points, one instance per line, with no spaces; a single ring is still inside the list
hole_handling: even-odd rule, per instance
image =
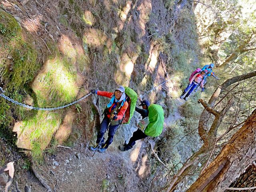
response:
[[[38,105],[56,107],[74,100],[78,93],[76,78],[75,70],[64,58],[48,60],[32,85]]]

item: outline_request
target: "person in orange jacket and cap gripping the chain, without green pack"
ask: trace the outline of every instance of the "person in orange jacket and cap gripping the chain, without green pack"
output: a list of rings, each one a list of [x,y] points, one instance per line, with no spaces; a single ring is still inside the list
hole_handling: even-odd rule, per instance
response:
[[[112,143],[114,134],[116,133],[119,124],[122,123],[122,118],[126,109],[128,108],[128,102],[126,101],[126,95],[124,91],[125,89],[123,86],[118,86],[114,92],[91,90],[91,93],[93,94],[110,98],[110,102],[104,110],[105,116],[100,124],[100,130],[97,135],[96,146],[90,146],[90,150],[98,150],[98,152],[103,153]],[[115,115],[114,112],[116,112],[117,115]],[[104,143],[103,135],[106,132],[108,125],[108,139]],[[102,142],[100,143],[101,140]]]

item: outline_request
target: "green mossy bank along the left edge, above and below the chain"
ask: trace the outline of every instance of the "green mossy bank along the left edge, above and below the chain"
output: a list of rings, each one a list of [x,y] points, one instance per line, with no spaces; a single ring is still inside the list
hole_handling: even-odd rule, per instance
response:
[[[26,34],[29,36],[30,34]],[[2,88],[6,91],[5,95],[22,102],[24,95],[24,84],[34,78],[36,70],[40,67],[36,62],[37,52],[30,41],[26,42],[22,36],[22,29],[18,22],[8,13],[0,10],[0,38],[3,46],[0,46],[0,64]],[[12,130],[9,129],[13,124],[13,118],[19,114],[24,116],[24,110],[17,105],[12,104],[0,98],[0,132],[11,144],[15,143],[16,138]],[[13,113],[14,111],[14,113]]]

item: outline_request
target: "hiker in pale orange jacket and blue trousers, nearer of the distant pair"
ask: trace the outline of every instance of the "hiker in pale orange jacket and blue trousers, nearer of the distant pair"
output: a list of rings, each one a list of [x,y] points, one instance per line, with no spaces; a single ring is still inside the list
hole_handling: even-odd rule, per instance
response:
[[[183,96],[186,94],[186,92],[189,90],[186,96],[184,96],[183,98],[184,100],[187,100],[187,97],[192,93],[192,91],[199,84],[201,85],[202,91],[204,91],[204,78],[207,75],[207,73],[208,73],[207,70],[201,70],[200,68],[197,68],[188,79],[190,82],[186,87],[186,89],[182,92],[182,95],[180,96],[180,98],[182,99]]]

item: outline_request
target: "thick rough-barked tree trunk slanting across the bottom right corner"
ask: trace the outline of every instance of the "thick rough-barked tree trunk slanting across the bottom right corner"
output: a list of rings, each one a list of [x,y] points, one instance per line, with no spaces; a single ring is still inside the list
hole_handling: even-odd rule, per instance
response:
[[[256,110],[187,192],[224,192],[256,159]]]

